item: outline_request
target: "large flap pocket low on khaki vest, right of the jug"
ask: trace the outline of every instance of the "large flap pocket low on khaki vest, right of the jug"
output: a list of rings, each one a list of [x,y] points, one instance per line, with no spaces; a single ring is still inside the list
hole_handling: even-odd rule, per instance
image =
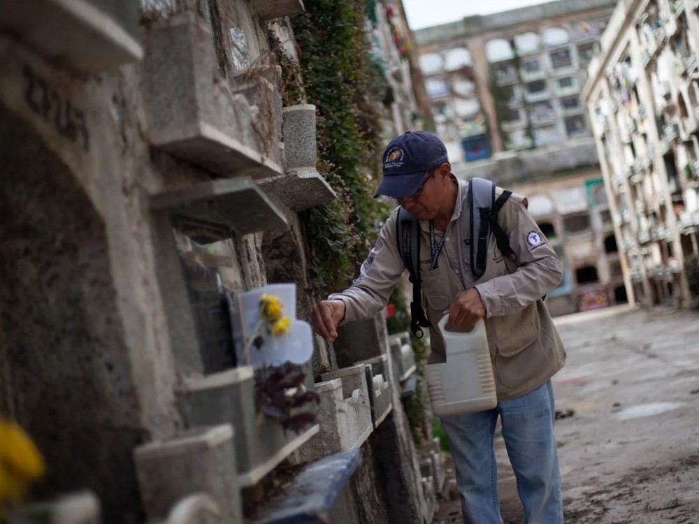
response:
[[[546,368],[546,355],[538,343],[538,330],[528,323],[496,344],[495,370],[503,386],[515,388]]]

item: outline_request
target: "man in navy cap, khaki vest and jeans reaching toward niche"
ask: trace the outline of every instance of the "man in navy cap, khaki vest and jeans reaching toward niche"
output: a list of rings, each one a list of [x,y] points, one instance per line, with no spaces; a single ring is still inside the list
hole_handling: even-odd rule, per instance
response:
[[[563,367],[565,350],[542,300],[561,282],[558,257],[528,214],[526,199],[513,194],[500,209],[498,222],[516,262],[503,256],[491,238],[485,272],[476,280],[470,270],[470,239],[459,238],[461,214],[470,212],[468,183],[452,175],[439,138],[424,131],[398,136],[384,152],[383,170],[375,196],[397,198],[421,228],[421,286],[432,326],[428,363],[445,361],[442,339],[434,329],[444,314],[449,314],[450,324],[467,329],[484,319],[487,330],[498,404],[441,419],[456,467],[464,523],[503,522],[493,453],[498,416],[517,476],[524,523],[563,523],[550,379]],[[498,188],[496,194],[501,192]],[[359,278],[315,306],[317,333],[332,341],[340,323],[374,316],[387,304],[404,270],[394,210]]]

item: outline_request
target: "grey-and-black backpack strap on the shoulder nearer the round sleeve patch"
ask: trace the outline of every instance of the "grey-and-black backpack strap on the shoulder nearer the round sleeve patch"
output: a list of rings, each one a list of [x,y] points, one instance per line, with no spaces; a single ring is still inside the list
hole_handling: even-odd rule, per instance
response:
[[[517,260],[517,254],[510,247],[510,240],[498,222],[498,212],[511,195],[512,191],[503,191],[496,200],[495,183],[484,178],[473,177],[468,183],[470,261],[471,272],[476,278],[482,277],[485,272],[491,231],[503,256],[512,262]]]

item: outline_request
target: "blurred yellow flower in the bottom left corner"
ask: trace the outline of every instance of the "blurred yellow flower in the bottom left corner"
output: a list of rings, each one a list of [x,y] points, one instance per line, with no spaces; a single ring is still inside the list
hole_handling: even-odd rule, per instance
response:
[[[0,521],[3,510],[20,502],[44,469],[41,453],[29,435],[17,423],[0,419]]]

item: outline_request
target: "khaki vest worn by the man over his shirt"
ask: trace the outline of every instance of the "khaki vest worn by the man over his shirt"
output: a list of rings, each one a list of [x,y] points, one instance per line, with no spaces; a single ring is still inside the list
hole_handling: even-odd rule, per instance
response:
[[[498,188],[498,194],[502,190]],[[462,213],[468,214],[466,191]],[[521,196],[512,195],[519,205]],[[512,231],[517,224],[517,205],[505,205],[499,213],[499,221],[506,232]],[[463,219],[460,217],[459,220]],[[464,239],[459,238],[459,246],[464,246]],[[421,236],[421,253],[429,253],[429,238]],[[516,265],[493,263],[501,256],[494,235],[491,234],[488,245],[488,263],[484,275],[477,280],[487,282],[500,275],[514,272]],[[470,252],[461,249],[461,272],[470,272]],[[421,271],[423,305],[432,326],[436,326],[444,312],[458,293],[464,291],[461,280],[454,275],[448,264],[440,264],[433,271]],[[498,400],[516,398],[533,391],[550,379],[565,363],[565,349],[561,337],[554,326],[552,318],[543,300],[536,300],[523,310],[507,316],[485,318],[493,374],[495,376]],[[431,354],[428,363],[445,362],[442,337],[435,327],[430,328]]]

